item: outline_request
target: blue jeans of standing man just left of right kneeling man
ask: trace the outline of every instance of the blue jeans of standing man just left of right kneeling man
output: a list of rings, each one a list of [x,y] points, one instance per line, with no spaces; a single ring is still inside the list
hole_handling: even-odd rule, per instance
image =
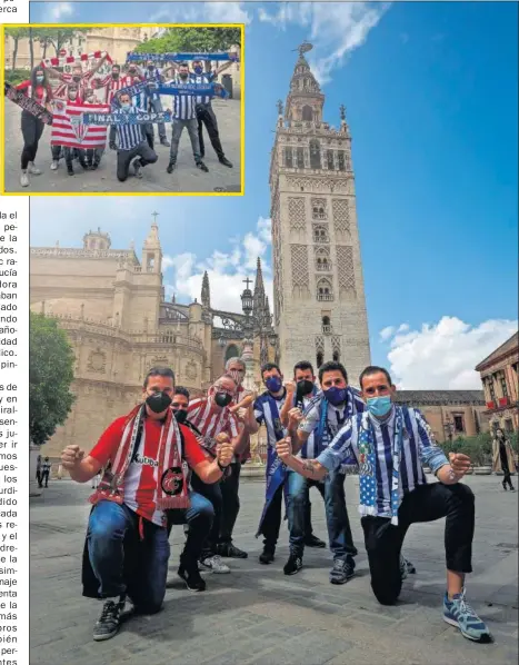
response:
[[[309,480],[297,473],[288,474],[288,526],[290,553],[302,556],[305,550],[305,513],[310,487],[317,487],[325,499],[330,549],[335,559],[352,559],[357,555],[346,509],[345,475],[331,472],[322,483]]]

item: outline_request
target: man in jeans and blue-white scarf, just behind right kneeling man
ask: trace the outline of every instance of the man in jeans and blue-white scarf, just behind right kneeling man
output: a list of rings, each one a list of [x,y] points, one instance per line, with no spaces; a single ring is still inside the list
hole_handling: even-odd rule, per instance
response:
[[[288,430],[295,450],[301,457],[318,455],[332,440],[346,420],[365,409],[358,390],[348,386],[348,374],[340,363],[329,361],[319,368],[319,383],[322,391],[316,395],[301,413],[298,407],[289,411]],[[308,445],[311,445],[311,449]],[[299,476],[293,482],[296,496],[306,503],[310,485],[316,485],[325,498],[328,536],[333,555],[330,570],[331,584],[345,584],[355,574],[357,548],[353,545],[345,495],[345,469],[333,469],[319,483],[307,482]],[[293,565],[301,567],[305,550],[303,534],[299,534],[290,554]]]

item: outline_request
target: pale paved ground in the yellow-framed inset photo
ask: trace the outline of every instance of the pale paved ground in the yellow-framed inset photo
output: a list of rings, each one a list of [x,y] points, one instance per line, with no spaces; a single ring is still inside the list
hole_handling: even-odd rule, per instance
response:
[[[164,100],[164,108],[167,108]],[[142,169],[142,180],[133,176],[124,182],[119,182],[116,176],[117,157],[114,150],[108,149],[97,171],[83,171],[74,161],[74,176],[67,173],[64,160],[60,160],[57,171],[50,170],[52,161],[50,152],[51,128],[46,127],[40,139],[37,166],[43,171],[41,176],[32,176],[29,187],[20,185],[20,155],[23,148],[23,138],[20,129],[21,110],[10,101],[6,101],[6,191],[7,192],[50,192],[50,193],[107,193],[107,192],[142,192],[142,193],[167,193],[167,192],[213,192],[213,191],[241,191],[240,185],[240,101],[239,100],[216,100],[213,101],[214,112],[218,118],[220,138],[227,158],[232,162],[233,168],[222,166],[212,149],[206,129],[203,138],[206,143],[204,162],[209,169],[204,173],[197,169],[191,151],[188,130],[184,129],[180,139],[179,155],[176,170],[169,175],[166,167],[169,162],[169,148],[160,146],[158,141],[158,129],[154,126],[156,152],[159,156],[154,165]],[[171,140],[171,123],[166,127],[168,140]],[[130,169],[131,172],[132,169]]]

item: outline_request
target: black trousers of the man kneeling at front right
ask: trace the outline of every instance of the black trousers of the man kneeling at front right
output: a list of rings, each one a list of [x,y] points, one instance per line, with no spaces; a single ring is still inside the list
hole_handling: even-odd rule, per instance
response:
[[[446,517],[447,568],[472,572],[475,498],[467,485],[421,485],[407,494],[398,510],[398,526],[387,517],[362,517],[371,588],[382,605],[393,605],[400,595],[400,550],[411,524]]]

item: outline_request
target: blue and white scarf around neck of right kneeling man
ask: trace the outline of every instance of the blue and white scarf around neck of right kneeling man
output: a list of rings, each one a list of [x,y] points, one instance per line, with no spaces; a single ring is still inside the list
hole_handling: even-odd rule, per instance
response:
[[[379,515],[377,510],[377,446],[373,425],[369,413],[365,411],[359,418],[359,513],[362,516],[378,515],[390,517],[391,524],[398,525],[398,509],[400,507],[400,459],[403,444],[403,408],[395,408],[395,435],[391,441],[392,474],[391,474],[391,505],[389,514]]]

